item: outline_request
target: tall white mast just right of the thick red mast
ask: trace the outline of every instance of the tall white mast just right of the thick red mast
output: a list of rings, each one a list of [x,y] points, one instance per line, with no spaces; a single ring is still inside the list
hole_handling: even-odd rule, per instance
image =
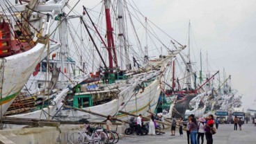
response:
[[[123,10],[123,0],[117,1],[118,6],[118,28],[119,34],[118,39],[120,42],[120,69],[123,71],[129,69],[129,53],[127,51],[127,39],[125,35],[125,21],[124,21],[124,10]],[[125,53],[124,53],[125,49]],[[125,62],[123,58],[125,57]]]

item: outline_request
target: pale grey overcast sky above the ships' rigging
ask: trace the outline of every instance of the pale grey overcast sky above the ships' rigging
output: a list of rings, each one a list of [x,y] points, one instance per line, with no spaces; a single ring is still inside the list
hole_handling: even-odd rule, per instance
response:
[[[92,8],[99,1],[82,3]],[[189,20],[195,46],[208,53],[212,70],[225,68],[232,87],[243,94],[247,109],[256,98],[256,1],[255,0],[134,0],[154,24],[181,44],[187,44]],[[195,59],[197,56],[195,56]],[[223,72],[222,72],[223,73]]]

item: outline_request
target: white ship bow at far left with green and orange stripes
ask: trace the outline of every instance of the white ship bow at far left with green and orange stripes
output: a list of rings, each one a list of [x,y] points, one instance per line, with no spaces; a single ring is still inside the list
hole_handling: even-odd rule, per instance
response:
[[[17,55],[5,57],[0,60],[1,64],[1,85],[2,95],[0,99],[0,111],[3,115],[8,107],[15,100],[19,91],[21,91],[24,84],[31,73],[35,70],[42,52],[45,49],[45,44],[37,44],[31,50]]]

